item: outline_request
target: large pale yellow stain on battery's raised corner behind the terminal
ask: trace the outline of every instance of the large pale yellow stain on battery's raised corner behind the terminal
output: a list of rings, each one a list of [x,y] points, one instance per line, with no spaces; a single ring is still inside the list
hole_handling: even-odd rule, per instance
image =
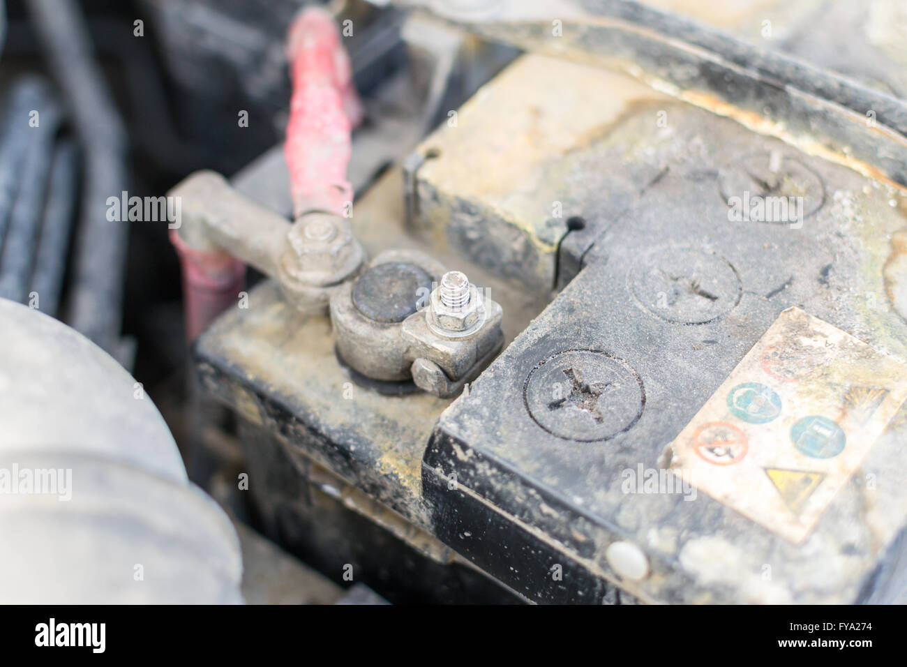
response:
[[[606,136],[632,104],[659,99],[667,98],[623,74],[523,55],[463,104],[455,127],[444,124],[422,143],[420,152],[439,157],[425,162],[419,177],[439,199],[452,200],[455,192],[457,199],[481,202],[484,212],[550,253],[556,241],[540,239],[537,225],[550,217],[553,201],[540,201],[536,216],[521,214],[515,202],[551,185],[545,165]],[[443,208],[451,205],[445,201]],[[441,212],[424,212],[434,228],[447,223]]]

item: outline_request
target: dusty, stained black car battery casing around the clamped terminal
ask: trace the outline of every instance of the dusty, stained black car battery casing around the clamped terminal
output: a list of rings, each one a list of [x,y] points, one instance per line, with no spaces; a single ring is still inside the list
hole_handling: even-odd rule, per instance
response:
[[[258,434],[251,493],[288,548],[326,535],[327,488],[438,568],[468,560],[533,602],[903,600],[895,190],[537,55],[397,179],[357,203],[357,237],[481,276],[506,347],[453,400],[387,396],[273,284],[215,322],[202,379]],[[375,564],[388,550],[328,552],[421,576]]]

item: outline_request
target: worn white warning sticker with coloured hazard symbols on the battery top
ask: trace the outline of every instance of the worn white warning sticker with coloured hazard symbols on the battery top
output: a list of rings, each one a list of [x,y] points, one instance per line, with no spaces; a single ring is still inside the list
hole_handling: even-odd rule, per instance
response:
[[[671,443],[697,488],[802,542],[907,398],[907,366],[786,309]]]

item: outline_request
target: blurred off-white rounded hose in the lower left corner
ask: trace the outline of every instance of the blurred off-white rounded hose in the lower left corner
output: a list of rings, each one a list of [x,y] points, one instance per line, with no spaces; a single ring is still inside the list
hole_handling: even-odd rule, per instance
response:
[[[35,309],[0,322],[0,603],[242,602],[236,533],[141,385]]]

